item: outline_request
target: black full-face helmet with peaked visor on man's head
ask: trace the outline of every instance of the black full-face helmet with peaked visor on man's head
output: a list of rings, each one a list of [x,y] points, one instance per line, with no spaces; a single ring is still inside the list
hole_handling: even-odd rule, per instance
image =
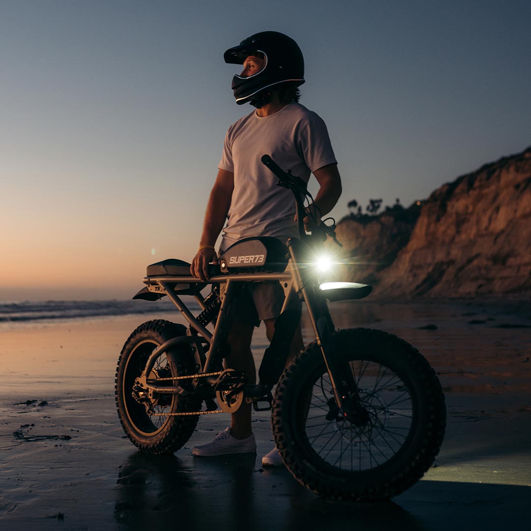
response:
[[[235,75],[233,78],[232,89],[238,105],[247,101],[255,105],[255,102],[263,100],[264,93],[280,83],[293,83],[295,87],[304,83],[304,58],[301,49],[284,33],[255,33],[242,40],[238,46],[229,48],[223,57],[226,63],[242,65],[246,57],[257,52],[265,58],[262,70],[249,77]]]

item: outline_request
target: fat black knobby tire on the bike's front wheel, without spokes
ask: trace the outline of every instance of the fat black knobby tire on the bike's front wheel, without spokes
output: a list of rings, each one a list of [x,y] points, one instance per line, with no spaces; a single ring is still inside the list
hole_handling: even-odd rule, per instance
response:
[[[288,365],[277,386],[272,427],[286,467],[304,486],[329,499],[379,501],[392,498],[415,484],[431,467],[446,426],[441,385],[426,359],[406,341],[372,329],[341,330],[334,336],[336,352],[345,361],[373,361],[400,373],[408,382],[415,408],[410,436],[386,463],[368,470],[345,472],[325,463],[304,440],[297,418],[297,397],[315,374],[326,372],[314,342]],[[313,376],[312,376],[313,375]],[[307,392],[307,391],[306,391]],[[299,409],[300,412],[300,409]]]

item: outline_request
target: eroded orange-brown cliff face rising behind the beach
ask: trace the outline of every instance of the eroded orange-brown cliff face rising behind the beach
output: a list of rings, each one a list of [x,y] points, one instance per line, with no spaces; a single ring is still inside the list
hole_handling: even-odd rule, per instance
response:
[[[418,219],[345,219],[350,277],[374,295],[531,294],[531,148],[441,186]]]

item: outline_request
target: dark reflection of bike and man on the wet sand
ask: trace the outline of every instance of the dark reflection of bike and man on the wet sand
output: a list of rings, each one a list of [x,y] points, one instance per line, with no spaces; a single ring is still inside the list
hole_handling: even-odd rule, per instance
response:
[[[396,503],[324,501],[284,468],[257,463],[255,454],[190,461],[134,453],[118,476],[114,517],[128,529],[423,529]]]

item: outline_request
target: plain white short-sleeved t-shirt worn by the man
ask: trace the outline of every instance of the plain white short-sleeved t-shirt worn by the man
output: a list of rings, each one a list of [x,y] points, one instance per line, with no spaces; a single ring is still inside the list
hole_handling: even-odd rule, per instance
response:
[[[295,198],[260,161],[271,158],[285,172],[308,182],[315,170],[336,164],[327,127],[303,105],[292,102],[270,116],[256,111],[231,125],[218,168],[234,173],[234,191],[221,249],[242,238],[297,237]]]

